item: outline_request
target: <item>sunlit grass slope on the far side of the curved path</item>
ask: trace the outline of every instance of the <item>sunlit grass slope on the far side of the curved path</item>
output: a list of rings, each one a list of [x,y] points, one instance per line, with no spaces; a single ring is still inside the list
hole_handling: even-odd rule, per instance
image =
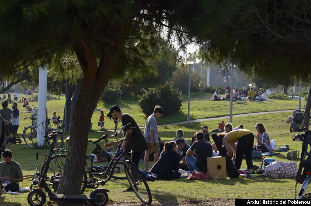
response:
[[[7,94],[6,94],[7,95]],[[190,119],[202,119],[202,118],[211,118],[211,117],[221,117],[228,116],[230,114],[230,102],[229,101],[212,101],[211,94],[204,93],[191,93],[191,104],[190,104]],[[48,117],[51,118],[53,111],[56,111],[56,115],[60,116],[63,119],[63,111],[65,105],[65,96],[55,96],[56,100],[47,101],[47,111]],[[122,98],[121,102],[118,103],[123,113],[128,113],[133,116],[139,126],[145,126],[147,116],[144,115],[140,108],[137,105],[137,97],[126,97]],[[304,102],[301,103],[302,108],[304,108]],[[35,105],[38,107],[38,102],[30,102],[30,105]],[[104,114],[107,115],[110,107],[114,104],[106,104],[102,101],[99,101],[97,108],[104,111]],[[18,105],[21,106],[20,104]],[[253,112],[262,112],[262,111],[276,111],[276,110],[292,110],[298,109],[299,101],[290,100],[275,100],[275,101],[236,101],[233,103],[233,115],[235,114],[244,114],[244,113],[253,113]],[[8,105],[8,108],[12,108],[12,104]],[[83,109],[83,108],[82,108]],[[30,117],[31,112],[25,112],[25,108],[21,107],[20,110],[20,128],[19,132],[22,133],[24,127],[31,125],[30,119],[24,120],[26,117]],[[98,120],[100,116],[100,110],[94,111],[91,119],[92,130],[99,131],[97,128]],[[165,112],[165,111],[164,111]],[[188,113],[188,96],[183,95],[182,102],[182,111],[176,115],[163,115],[162,118],[158,119],[158,124],[169,124],[174,122],[181,122],[187,120]],[[291,114],[292,115],[292,114]],[[284,117],[283,119],[287,119]],[[83,119],[79,119],[83,121]],[[120,128],[119,124],[119,127]],[[238,126],[238,125],[237,125]],[[56,124],[52,123],[52,127],[56,128]],[[217,125],[213,125],[209,128],[216,129]],[[114,122],[109,121],[108,118],[105,118],[105,128],[114,129]]]

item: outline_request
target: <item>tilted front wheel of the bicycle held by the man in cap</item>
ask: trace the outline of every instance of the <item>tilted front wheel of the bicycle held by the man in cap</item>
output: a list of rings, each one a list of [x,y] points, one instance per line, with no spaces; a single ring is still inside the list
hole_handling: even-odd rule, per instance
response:
[[[137,166],[130,160],[124,160],[124,170],[128,183],[130,183],[136,196],[142,203],[150,205],[152,202],[151,192],[144,176]]]

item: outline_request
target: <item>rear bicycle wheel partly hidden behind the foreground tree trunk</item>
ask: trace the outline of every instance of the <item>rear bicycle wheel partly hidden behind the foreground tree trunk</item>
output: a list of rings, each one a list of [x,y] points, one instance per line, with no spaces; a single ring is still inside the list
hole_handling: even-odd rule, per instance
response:
[[[49,176],[55,175],[57,173],[63,174],[64,166],[65,166],[65,162],[66,162],[66,157],[67,157],[67,155],[65,155],[65,154],[58,154],[58,155],[52,156],[51,160],[50,160],[49,169],[46,173],[46,176],[49,177]],[[43,163],[40,174],[43,174],[45,165],[46,165],[46,162]],[[84,170],[80,194],[82,194],[85,190],[85,184],[87,182],[86,180],[87,180],[87,175],[86,175],[86,171]]]

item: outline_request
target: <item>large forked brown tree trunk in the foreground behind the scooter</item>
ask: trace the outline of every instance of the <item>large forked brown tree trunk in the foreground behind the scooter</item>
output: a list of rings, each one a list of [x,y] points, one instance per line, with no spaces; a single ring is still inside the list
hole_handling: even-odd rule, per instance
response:
[[[117,41],[117,40],[116,40]],[[107,45],[102,49],[101,60],[97,59],[86,42],[73,45],[82,71],[83,82],[70,123],[70,141],[67,160],[62,180],[59,184],[60,194],[79,194],[82,172],[85,170],[87,138],[91,117],[104,88],[112,76],[123,40]],[[92,98],[86,98],[92,94]]]

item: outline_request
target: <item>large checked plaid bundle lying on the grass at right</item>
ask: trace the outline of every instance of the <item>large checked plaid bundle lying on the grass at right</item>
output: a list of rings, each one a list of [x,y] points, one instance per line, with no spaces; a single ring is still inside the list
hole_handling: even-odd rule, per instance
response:
[[[270,178],[295,177],[297,172],[296,162],[279,162],[276,160],[263,168],[263,173],[266,173]]]

